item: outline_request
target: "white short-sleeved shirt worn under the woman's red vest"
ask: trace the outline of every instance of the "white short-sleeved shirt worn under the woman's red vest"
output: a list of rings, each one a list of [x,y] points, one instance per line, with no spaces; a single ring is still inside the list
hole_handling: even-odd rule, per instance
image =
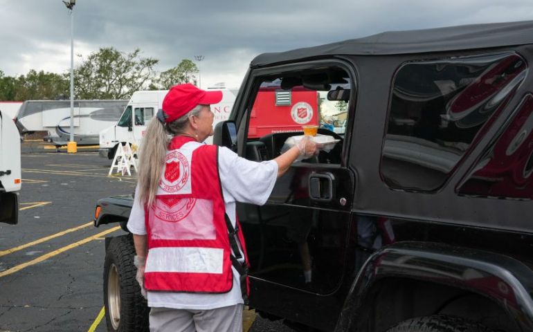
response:
[[[188,142],[186,144],[200,144]],[[235,203],[263,205],[269,198],[278,176],[278,164],[273,160],[256,163],[240,158],[226,147],[219,147],[218,165],[226,213],[235,227]],[[217,185],[217,184],[213,184]],[[127,228],[137,235],[145,235],[145,210],[135,194]],[[194,294],[177,292],[147,292],[148,306],[177,309],[208,310],[243,303],[239,273],[233,268],[233,288],[224,294]]]

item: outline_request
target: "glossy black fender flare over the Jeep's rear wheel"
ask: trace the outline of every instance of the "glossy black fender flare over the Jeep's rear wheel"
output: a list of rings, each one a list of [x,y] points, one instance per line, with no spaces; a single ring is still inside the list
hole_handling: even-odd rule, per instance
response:
[[[374,252],[347,294],[334,331],[357,331],[372,285],[404,277],[460,287],[500,305],[523,331],[533,331],[533,270],[512,257],[442,243],[406,241]]]

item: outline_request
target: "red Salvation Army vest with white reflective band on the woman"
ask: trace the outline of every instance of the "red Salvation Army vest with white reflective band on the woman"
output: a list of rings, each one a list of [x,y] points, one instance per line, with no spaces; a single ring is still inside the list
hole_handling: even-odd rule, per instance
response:
[[[155,203],[145,207],[149,291],[227,293],[233,287],[232,264],[240,257],[228,224],[218,172],[216,145],[192,144],[185,136],[170,142]],[[228,231],[230,228],[230,231]],[[237,222],[237,230],[240,228]],[[244,252],[242,232],[237,239]],[[238,266],[235,266],[239,270]],[[246,264],[244,269],[247,268]],[[241,270],[239,270],[241,273]],[[241,278],[246,286],[247,278]],[[244,289],[244,288],[243,288]]]

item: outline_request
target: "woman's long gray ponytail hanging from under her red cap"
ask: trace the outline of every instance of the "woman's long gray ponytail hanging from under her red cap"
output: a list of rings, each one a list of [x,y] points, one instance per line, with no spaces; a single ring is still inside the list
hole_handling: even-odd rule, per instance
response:
[[[186,115],[166,124],[156,117],[150,121],[139,148],[138,198],[141,204],[152,205],[156,198],[161,177],[169,135],[179,135],[186,131],[191,116],[199,116],[202,107],[198,105]]]

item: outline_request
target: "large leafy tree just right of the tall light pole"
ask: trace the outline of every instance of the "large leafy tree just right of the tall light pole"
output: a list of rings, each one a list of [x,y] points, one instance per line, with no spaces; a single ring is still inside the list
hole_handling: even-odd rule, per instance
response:
[[[152,57],[141,57],[141,50],[123,53],[114,47],[91,53],[74,71],[78,99],[127,99],[134,91],[147,89],[155,79]],[[66,74],[68,76],[68,74]]]

